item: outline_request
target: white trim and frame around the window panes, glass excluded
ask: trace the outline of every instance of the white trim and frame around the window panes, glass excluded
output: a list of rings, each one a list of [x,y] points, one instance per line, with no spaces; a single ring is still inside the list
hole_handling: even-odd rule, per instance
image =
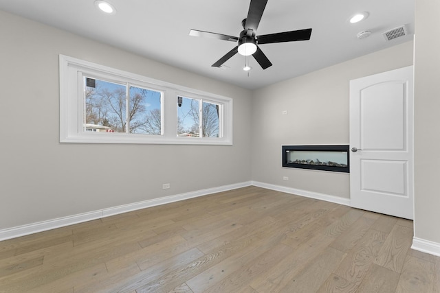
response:
[[[191,145],[232,145],[232,99],[185,86],[146,78],[93,62],[60,55],[60,142],[61,143],[152,143]],[[83,75],[112,80],[121,78],[164,92],[162,135],[83,131]],[[177,95],[196,97],[223,105],[223,137],[177,137]]]

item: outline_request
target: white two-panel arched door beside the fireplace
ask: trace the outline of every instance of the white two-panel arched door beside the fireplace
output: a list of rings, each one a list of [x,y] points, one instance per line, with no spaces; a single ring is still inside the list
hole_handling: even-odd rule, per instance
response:
[[[413,218],[413,67],[350,81],[351,206]]]

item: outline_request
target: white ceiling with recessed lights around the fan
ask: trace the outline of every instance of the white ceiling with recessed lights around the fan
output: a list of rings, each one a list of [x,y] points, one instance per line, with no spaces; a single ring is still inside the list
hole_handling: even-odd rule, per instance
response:
[[[373,51],[412,40],[414,0],[269,0],[257,36],[311,27],[311,39],[261,45],[273,66],[243,71],[245,57],[233,56],[219,69],[211,65],[236,44],[189,36],[190,29],[239,36],[250,0],[109,0],[117,13],[106,15],[94,0],[0,0],[0,10],[86,36],[126,51],[210,78],[258,89]],[[355,12],[368,19],[351,24]],[[382,32],[407,25],[408,36],[386,41]],[[370,30],[358,40],[358,32]]]

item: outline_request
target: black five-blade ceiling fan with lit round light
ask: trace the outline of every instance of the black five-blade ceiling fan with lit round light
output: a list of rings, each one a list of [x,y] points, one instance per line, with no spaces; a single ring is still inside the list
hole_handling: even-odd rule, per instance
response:
[[[243,31],[241,31],[239,37],[217,34],[214,32],[204,32],[201,30],[190,30],[190,36],[203,36],[205,38],[217,38],[218,40],[238,42],[234,49],[230,50],[225,54],[225,56],[221,57],[212,65],[212,67],[221,67],[224,62],[228,61],[232,56],[239,53],[243,56],[254,56],[256,62],[259,62],[259,65],[263,69],[266,69],[267,67],[271,67],[272,63],[269,59],[267,59],[258,45],[310,39],[311,28],[256,36],[256,29],[259,27],[261,16],[263,15],[266,4],[267,0],[250,0],[248,17],[241,21]]]

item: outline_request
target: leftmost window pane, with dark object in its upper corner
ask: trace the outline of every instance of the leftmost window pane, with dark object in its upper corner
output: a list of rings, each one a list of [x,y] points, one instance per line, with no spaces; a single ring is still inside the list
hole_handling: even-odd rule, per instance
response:
[[[85,131],[126,132],[126,86],[85,78]]]

